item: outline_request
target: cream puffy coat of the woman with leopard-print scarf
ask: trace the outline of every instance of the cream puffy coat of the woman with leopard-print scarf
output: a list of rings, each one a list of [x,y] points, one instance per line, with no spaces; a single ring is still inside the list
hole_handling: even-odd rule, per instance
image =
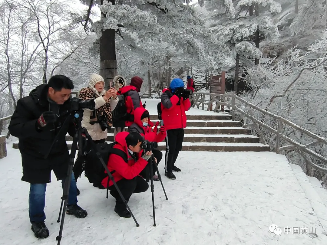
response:
[[[96,83],[90,79],[88,87],[93,90],[95,96],[97,97],[95,99],[95,109],[98,109],[99,107],[103,106],[106,103],[105,99],[102,97],[102,95],[106,93],[106,90],[102,90],[99,93],[94,87],[95,84]],[[116,99],[114,99],[113,97],[110,98],[110,107],[112,111],[117,106],[117,103],[118,103],[117,97]],[[82,127],[86,128],[86,130],[88,131],[88,133],[90,134],[93,140],[106,139],[108,135],[107,129],[105,131],[102,131],[99,123],[95,123],[93,125],[90,124],[90,116],[91,113],[93,113],[94,111],[90,109],[83,109],[83,110],[84,110],[83,120],[81,122]]]

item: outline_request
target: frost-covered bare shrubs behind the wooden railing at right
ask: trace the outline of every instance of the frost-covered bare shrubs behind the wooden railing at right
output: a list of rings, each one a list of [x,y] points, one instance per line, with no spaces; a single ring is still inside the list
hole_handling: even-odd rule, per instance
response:
[[[285,59],[270,60],[265,64],[247,68],[247,81],[254,88],[253,92],[243,98],[263,109],[284,117],[301,127],[321,136],[327,136],[327,112],[325,109],[327,85],[327,31],[323,37],[307,47],[302,55],[301,49],[294,47],[287,52]],[[247,110],[250,110],[248,107]],[[276,128],[276,120],[265,118],[260,112],[249,112],[262,122]],[[275,137],[263,130],[266,142],[274,146]],[[312,138],[296,132],[294,128],[284,125],[283,134],[306,145],[312,143]],[[288,144],[285,142],[285,144]],[[308,146],[309,147],[309,146]],[[311,144],[310,148],[327,156],[326,146]],[[286,156],[291,163],[299,164],[308,174],[313,174],[307,168],[305,159],[294,151],[287,151]],[[320,165],[319,161],[316,161]],[[321,179],[321,172],[315,177]]]

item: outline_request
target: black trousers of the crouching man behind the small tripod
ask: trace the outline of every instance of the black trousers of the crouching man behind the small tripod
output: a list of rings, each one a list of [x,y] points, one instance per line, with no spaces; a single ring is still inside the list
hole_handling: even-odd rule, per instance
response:
[[[133,193],[145,192],[149,188],[148,183],[141,176],[136,176],[130,180],[122,179],[116,183],[127,202],[129,201],[129,198]],[[115,186],[112,185],[111,187],[109,187],[109,189],[110,189],[110,194],[116,199],[115,208],[118,209],[118,211],[126,210],[126,205],[121,199]]]

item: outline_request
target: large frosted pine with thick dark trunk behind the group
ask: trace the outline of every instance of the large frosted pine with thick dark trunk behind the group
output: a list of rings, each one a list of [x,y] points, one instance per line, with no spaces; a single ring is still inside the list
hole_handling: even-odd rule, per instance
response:
[[[144,42],[151,40],[163,43],[163,46],[168,43],[175,49],[182,50],[183,56],[193,64],[221,67],[232,62],[228,47],[205,28],[204,22],[199,18],[196,8],[190,5],[190,1],[91,0],[83,2],[89,6],[97,4],[101,9],[101,20],[94,23],[92,27],[100,38],[102,63],[111,63],[113,66],[115,64],[113,61],[116,58],[115,34],[120,36],[133,51],[142,52],[141,47]],[[112,67],[112,69],[116,68]]]

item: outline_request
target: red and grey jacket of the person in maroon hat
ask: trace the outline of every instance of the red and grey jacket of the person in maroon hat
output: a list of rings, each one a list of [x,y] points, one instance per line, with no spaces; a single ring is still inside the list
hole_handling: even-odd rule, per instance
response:
[[[134,116],[134,110],[137,107],[143,106],[142,102],[141,102],[141,98],[140,98],[139,93],[137,92],[137,89],[131,85],[128,85],[128,86],[125,86],[125,87],[119,89],[119,91],[117,92],[117,95],[125,94],[126,92],[128,92],[126,95],[126,99],[125,99],[125,106],[127,109],[127,113]],[[133,123],[134,123],[133,121],[126,121],[125,126],[129,127]]]

